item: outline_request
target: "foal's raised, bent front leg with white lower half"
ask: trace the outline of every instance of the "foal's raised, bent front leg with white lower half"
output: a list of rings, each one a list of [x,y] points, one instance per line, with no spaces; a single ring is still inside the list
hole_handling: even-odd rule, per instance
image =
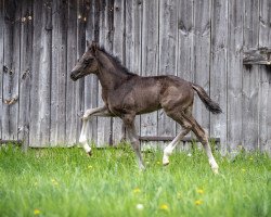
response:
[[[79,142],[81,143],[83,150],[87,152],[87,154],[91,155],[91,148],[89,146],[87,142],[87,130],[88,130],[88,120],[91,116],[112,116],[111,112],[107,110],[107,107],[95,107],[87,110],[83,113],[82,116],[82,129],[79,138]]]

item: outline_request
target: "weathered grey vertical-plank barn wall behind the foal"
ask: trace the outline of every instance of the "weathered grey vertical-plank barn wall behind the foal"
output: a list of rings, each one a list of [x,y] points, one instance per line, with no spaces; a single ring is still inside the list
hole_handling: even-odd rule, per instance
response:
[[[69,72],[99,41],[139,75],[178,75],[220,103],[195,98],[194,115],[223,152],[271,150],[271,69],[243,65],[243,52],[271,47],[269,0],[0,0],[0,138],[31,146],[78,141],[80,116],[102,105],[101,86]],[[163,111],[137,118],[141,136],[175,136]],[[121,138],[118,118],[90,120],[102,146]]]

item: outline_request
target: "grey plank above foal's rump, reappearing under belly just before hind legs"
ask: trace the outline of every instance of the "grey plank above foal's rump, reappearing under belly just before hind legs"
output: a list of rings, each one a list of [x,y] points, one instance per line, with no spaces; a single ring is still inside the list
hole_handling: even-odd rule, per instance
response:
[[[177,75],[177,1],[159,1],[159,75]],[[176,123],[158,112],[158,135],[176,136]]]

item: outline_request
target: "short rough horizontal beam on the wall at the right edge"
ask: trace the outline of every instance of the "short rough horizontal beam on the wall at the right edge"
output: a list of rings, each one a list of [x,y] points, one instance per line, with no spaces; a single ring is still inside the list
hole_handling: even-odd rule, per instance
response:
[[[244,52],[244,65],[271,65],[271,48],[259,48]]]

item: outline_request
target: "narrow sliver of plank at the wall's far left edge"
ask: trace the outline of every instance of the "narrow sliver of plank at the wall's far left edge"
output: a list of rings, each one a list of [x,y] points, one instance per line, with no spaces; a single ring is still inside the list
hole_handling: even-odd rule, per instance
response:
[[[3,118],[3,98],[2,98],[2,87],[3,87],[3,66],[4,66],[4,1],[0,1],[0,138],[2,138],[2,118]]]

